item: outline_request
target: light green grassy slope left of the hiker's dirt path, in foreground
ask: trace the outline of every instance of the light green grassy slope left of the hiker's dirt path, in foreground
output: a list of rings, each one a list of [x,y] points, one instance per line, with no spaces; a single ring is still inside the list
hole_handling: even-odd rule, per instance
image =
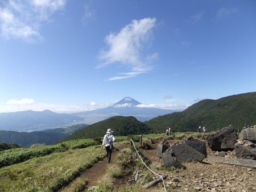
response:
[[[55,191],[105,155],[104,150],[93,146],[1,168],[0,191]]]

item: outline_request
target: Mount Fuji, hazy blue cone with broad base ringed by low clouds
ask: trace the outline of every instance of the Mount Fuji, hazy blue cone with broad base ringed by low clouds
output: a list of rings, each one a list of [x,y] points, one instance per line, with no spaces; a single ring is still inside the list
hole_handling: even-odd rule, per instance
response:
[[[112,106],[99,108],[92,111],[77,112],[73,113],[72,115],[78,116],[79,118],[84,118],[83,123],[85,124],[93,124],[117,115],[134,116],[138,120],[144,122],[145,120],[150,120],[156,116],[171,114],[172,112],[176,111],[180,110],[143,107],[141,102],[138,102],[131,97],[125,97],[117,103],[114,103]]]

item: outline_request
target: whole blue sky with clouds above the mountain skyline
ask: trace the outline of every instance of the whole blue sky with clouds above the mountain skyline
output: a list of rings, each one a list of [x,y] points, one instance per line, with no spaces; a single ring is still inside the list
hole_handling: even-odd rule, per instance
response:
[[[0,1],[0,112],[256,90],[255,1]]]

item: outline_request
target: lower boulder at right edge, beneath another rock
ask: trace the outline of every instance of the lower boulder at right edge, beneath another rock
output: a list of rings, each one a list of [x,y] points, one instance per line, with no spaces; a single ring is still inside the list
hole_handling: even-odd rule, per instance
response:
[[[256,160],[256,145],[243,145],[236,143],[234,145],[234,152],[236,153],[237,158],[245,158]]]

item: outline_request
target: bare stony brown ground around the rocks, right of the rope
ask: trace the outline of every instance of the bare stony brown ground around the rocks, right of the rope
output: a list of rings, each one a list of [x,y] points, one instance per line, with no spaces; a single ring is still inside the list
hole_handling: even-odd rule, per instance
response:
[[[167,140],[175,143],[177,140]],[[209,162],[185,162],[185,169],[166,170],[162,158],[154,149],[144,151],[152,161],[151,168],[167,175],[165,183],[170,191],[256,191],[256,169],[243,166]],[[212,153],[207,145],[207,152]]]

